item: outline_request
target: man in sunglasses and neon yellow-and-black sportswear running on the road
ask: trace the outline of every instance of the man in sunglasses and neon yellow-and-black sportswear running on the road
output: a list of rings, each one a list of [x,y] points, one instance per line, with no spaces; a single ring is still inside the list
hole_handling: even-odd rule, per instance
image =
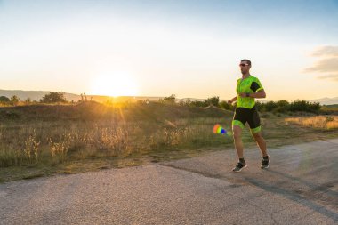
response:
[[[254,101],[255,98],[265,98],[266,94],[258,78],[250,75],[251,61],[241,60],[239,67],[242,78],[237,80],[237,96],[228,100],[229,104],[237,100],[237,107],[232,120],[232,132],[234,134],[234,143],[238,156],[238,163],[232,169],[234,172],[240,172],[247,166],[243,157],[243,142],[241,138],[242,130],[244,129],[246,122],[249,124],[254,140],[257,142],[257,145],[262,152],[261,168],[268,168],[270,161],[266,142],[262,138],[261,121]]]

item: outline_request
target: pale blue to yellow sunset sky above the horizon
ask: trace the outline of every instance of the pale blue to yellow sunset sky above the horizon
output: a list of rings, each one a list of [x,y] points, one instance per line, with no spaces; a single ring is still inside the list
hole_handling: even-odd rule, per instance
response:
[[[337,0],[0,0],[0,89],[228,100],[249,59],[267,100],[338,97],[337,21]]]

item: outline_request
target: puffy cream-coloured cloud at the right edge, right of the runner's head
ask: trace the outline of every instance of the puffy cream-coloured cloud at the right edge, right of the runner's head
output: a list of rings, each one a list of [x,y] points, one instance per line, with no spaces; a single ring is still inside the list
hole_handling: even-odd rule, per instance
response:
[[[320,79],[338,81],[338,46],[323,46],[312,54],[318,61],[310,68],[305,68],[306,73],[318,73]]]

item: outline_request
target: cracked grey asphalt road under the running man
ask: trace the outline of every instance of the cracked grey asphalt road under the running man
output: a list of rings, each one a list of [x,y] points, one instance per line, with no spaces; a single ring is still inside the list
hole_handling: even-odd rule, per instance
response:
[[[0,185],[0,224],[338,224],[338,139]]]

